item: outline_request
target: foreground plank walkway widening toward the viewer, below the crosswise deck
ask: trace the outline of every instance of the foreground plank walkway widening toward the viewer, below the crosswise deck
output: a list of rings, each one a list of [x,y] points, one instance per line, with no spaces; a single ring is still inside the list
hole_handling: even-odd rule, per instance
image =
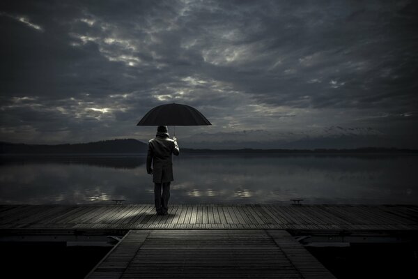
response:
[[[286,231],[135,230],[102,259],[98,278],[334,278]]]

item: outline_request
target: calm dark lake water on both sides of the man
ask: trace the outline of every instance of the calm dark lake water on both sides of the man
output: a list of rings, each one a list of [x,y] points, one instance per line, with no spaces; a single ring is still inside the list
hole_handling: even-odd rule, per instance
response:
[[[144,156],[1,157],[0,204],[153,203]],[[418,204],[418,156],[173,158],[171,203]]]

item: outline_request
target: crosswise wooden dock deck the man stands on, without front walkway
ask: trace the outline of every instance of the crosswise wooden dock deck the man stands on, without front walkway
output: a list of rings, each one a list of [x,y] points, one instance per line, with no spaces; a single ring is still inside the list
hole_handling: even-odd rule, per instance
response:
[[[4,229],[417,230],[418,206],[172,204],[2,205]]]

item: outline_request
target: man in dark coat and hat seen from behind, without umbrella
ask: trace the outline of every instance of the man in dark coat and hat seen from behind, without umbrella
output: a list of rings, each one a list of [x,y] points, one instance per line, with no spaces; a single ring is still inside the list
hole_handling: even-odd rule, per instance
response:
[[[148,142],[146,171],[148,174],[153,174],[157,215],[167,215],[169,210],[170,183],[174,180],[171,153],[176,156],[180,153],[176,137],[173,137],[173,140],[169,137],[167,126],[158,126],[157,135]]]

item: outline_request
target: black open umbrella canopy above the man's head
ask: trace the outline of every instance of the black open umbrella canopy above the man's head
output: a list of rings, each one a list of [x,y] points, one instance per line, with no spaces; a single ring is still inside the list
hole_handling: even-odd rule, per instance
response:
[[[167,104],[154,107],[137,126],[201,126],[212,125],[201,112],[189,105]]]

